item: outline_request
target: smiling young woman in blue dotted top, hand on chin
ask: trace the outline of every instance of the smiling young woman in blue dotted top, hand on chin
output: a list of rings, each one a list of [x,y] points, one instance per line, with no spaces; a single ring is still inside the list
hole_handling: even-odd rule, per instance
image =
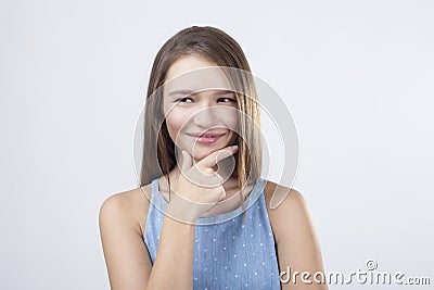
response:
[[[260,177],[248,72],[214,27],[183,29],[157,53],[141,186],[100,210],[112,289],[327,289],[314,279],[323,267],[302,194]],[[270,209],[276,191],[290,193]]]

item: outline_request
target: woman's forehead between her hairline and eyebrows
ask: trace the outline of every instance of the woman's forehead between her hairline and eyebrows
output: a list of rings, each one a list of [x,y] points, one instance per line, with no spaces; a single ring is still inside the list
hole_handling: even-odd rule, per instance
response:
[[[225,68],[200,55],[186,55],[173,63],[164,86],[165,91],[231,90]]]

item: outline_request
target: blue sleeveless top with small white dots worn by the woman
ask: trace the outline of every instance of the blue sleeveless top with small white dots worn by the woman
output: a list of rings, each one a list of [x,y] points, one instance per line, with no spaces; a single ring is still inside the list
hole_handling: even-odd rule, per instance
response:
[[[275,237],[258,178],[246,201],[245,220],[237,210],[200,217],[195,226],[193,289],[280,289]],[[144,243],[154,264],[167,202],[152,180]]]

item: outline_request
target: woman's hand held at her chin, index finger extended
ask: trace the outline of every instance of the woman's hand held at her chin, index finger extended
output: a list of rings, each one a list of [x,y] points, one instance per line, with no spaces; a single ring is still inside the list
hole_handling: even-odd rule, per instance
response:
[[[224,200],[225,180],[214,167],[237,151],[237,146],[230,146],[210,153],[194,165],[193,157],[182,151],[181,174],[166,213],[178,220],[194,224],[203,213]]]

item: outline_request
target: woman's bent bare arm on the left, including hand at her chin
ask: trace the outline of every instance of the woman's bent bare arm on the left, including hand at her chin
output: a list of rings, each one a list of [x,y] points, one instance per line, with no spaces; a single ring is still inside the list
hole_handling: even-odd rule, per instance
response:
[[[199,166],[213,173],[217,162],[235,151],[228,148],[215,151],[194,166],[191,156],[186,155],[182,166],[192,178],[200,173]],[[114,194],[100,210],[100,234],[112,290],[193,289],[194,224],[202,213],[225,198],[222,186],[207,188],[191,184],[183,177],[178,179],[176,192],[163,218],[153,266],[143,241],[142,222],[138,218],[138,213],[149,209],[149,201],[140,191]]]

